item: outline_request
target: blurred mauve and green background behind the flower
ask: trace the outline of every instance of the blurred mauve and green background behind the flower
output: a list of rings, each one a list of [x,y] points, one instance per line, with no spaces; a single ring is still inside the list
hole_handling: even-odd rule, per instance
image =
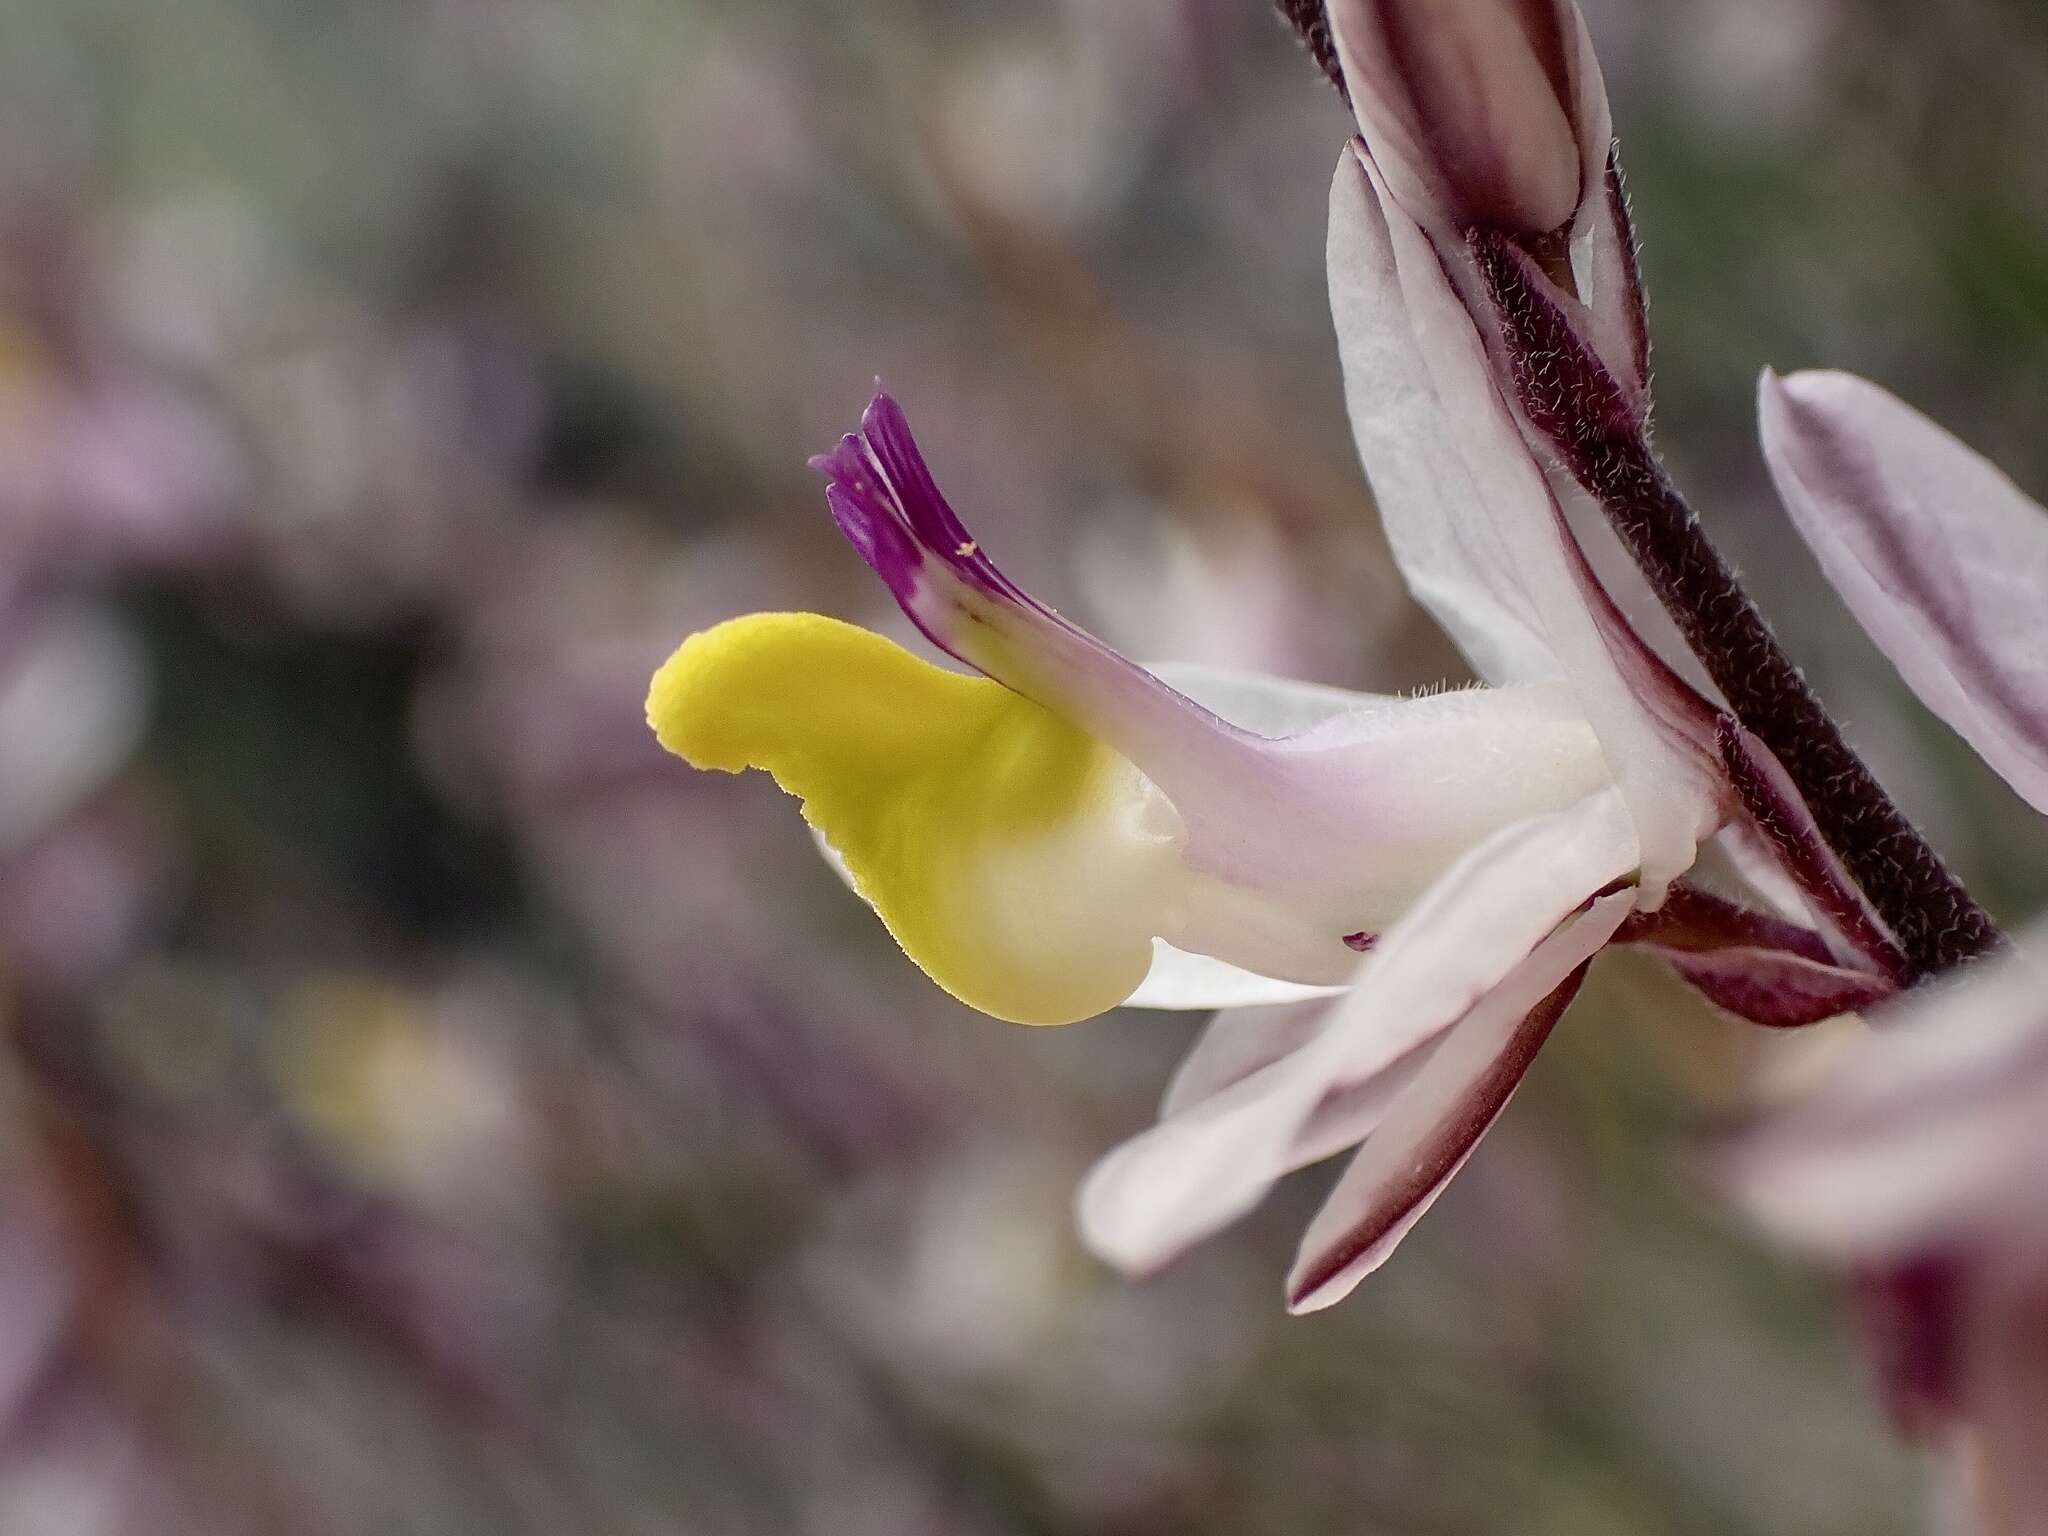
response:
[[[1761,365],[2048,489],[2036,0],[1599,0],[1661,444],[2005,918],[2048,838],[1763,489]],[[1604,961],[1401,1257],[1133,1286],[1196,1022],[961,1010],[692,629],[903,635],[877,375],[1139,655],[1462,676],[1343,428],[1346,133],[1262,0],[0,0],[0,1530],[1907,1532],[1839,1298],[1700,1178],[1755,1042]]]

